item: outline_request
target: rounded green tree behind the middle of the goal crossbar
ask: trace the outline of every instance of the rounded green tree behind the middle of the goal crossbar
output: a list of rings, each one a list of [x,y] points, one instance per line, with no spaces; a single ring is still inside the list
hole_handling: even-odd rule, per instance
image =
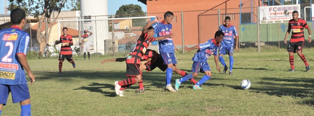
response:
[[[139,5],[123,5],[116,11],[114,18],[124,17],[143,17],[145,16],[142,7]],[[132,20],[133,27],[144,27],[146,25],[146,19],[134,19]]]

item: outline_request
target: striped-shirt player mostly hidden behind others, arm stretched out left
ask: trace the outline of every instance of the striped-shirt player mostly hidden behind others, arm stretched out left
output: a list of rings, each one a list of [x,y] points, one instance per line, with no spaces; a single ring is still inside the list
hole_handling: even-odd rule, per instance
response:
[[[104,60],[101,63],[104,64],[106,62],[111,62],[111,61],[124,62],[124,61],[126,61],[126,59],[127,59],[127,57],[119,57],[119,58],[115,58],[115,59]],[[149,71],[154,70],[157,67],[160,70],[162,70],[163,72],[165,72],[167,69],[167,65],[164,64],[163,57],[159,53],[157,53],[155,50],[147,49],[146,52],[144,53],[144,55],[141,57],[140,70],[141,71],[146,70],[149,72]],[[182,77],[187,75],[187,73],[185,71],[178,69],[175,65],[172,68],[172,71],[178,75],[181,75]],[[190,81],[193,84],[197,83],[197,81],[194,78],[190,79]],[[140,81],[138,83],[138,85],[140,88],[136,91],[136,93],[143,92],[145,90],[144,86],[143,86],[143,80]]]

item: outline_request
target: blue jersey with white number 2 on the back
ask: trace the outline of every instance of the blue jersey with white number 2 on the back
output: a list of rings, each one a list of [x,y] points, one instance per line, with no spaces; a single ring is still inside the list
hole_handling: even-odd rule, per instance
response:
[[[29,34],[17,26],[0,31],[0,84],[18,85],[27,83],[25,72],[17,54],[26,55]]]

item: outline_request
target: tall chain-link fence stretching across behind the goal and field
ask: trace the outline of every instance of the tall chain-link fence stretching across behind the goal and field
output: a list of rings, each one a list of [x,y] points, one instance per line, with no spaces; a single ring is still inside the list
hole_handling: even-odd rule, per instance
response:
[[[300,18],[305,19],[311,28],[311,4],[305,1],[301,1],[299,4],[301,6]],[[185,45],[192,46],[214,38],[214,33],[218,30],[219,25],[224,24],[224,18],[229,16],[231,18],[230,24],[235,26],[238,31],[239,41],[237,43],[240,49],[246,47],[258,49],[258,45],[260,47],[273,46],[287,48],[288,44],[284,43],[284,37],[288,29],[288,23],[260,24],[258,28],[257,7],[258,5],[254,4],[252,7],[240,6],[240,8],[233,9],[173,12],[172,32],[177,34],[177,37],[174,38],[174,45],[179,49],[183,49]],[[54,47],[54,41],[58,40],[60,35],[62,35],[62,28],[67,27],[69,28],[68,34],[73,36],[72,49],[74,49],[74,54],[80,55],[82,53],[81,37],[84,34],[84,30],[89,30],[93,32],[93,35],[90,36],[91,53],[125,56],[134,49],[142,28],[148,20],[151,20],[149,18],[154,16],[164,17],[164,13],[59,17],[57,19],[58,23],[49,25],[49,27],[52,26],[52,29],[50,37],[47,39],[49,46],[46,46],[45,51],[58,52],[60,46],[57,45]],[[0,29],[11,27],[12,23],[9,20],[8,18],[0,19]],[[51,18],[51,20],[54,19]],[[27,20],[27,22],[24,31],[28,32],[31,36],[31,43],[29,45],[31,52],[28,54],[30,56],[38,56],[38,53],[36,53],[39,49],[39,42],[36,38],[38,20]],[[42,28],[40,32],[45,33],[45,29]],[[258,32],[260,33],[259,44]],[[304,32],[304,36],[307,39],[307,30]],[[291,33],[288,36],[288,40],[290,37]],[[306,48],[313,46],[313,42],[304,42],[304,47]],[[156,42],[153,42],[149,48],[158,50],[158,45]],[[53,53],[50,53],[51,55]]]

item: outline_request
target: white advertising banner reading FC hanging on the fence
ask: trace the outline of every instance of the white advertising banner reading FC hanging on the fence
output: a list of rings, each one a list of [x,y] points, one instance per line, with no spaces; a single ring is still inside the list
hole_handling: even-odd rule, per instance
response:
[[[259,7],[259,24],[288,23],[293,11],[298,11],[300,18],[300,9],[300,5]]]

